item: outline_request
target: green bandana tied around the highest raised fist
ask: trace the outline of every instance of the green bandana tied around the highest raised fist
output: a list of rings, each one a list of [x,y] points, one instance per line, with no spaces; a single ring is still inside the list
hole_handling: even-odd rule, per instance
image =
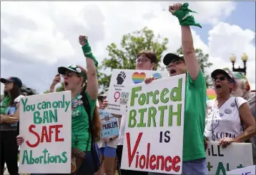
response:
[[[181,9],[174,12],[174,16],[176,16],[179,19],[179,25],[181,26],[199,26],[202,28],[202,26],[198,23],[195,23],[194,16],[189,14],[189,12],[197,13],[195,11],[192,11],[188,9],[189,4],[186,2],[182,5]]]

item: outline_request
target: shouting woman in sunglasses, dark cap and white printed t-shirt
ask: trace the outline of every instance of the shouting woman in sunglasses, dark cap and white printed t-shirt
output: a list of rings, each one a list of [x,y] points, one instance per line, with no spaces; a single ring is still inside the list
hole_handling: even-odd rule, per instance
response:
[[[232,142],[244,142],[255,134],[255,119],[242,97],[230,96],[235,79],[230,71],[212,72],[216,99],[207,101],[205,136],[208,141],[220,141],[225,148]]]

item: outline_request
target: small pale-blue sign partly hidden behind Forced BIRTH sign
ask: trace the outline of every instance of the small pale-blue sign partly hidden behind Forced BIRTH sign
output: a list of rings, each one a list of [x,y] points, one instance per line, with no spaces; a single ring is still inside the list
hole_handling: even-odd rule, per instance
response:
[[[102,109],[99,110],[99,117],[102,121],[102,138],[119,135],[119,123],[116,117]]]

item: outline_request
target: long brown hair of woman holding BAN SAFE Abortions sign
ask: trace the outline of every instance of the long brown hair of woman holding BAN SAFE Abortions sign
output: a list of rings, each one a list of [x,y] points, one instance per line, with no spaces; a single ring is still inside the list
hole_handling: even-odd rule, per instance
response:
[[[87,71],[82,67],[77,65],[85,74],[85,76],[87,76]],[[82,91],[86,91],[87,90],[87,82],[84,82],[84,84],[82,85]],[[99,118],[99,109],[97,108],[97,106],[95,106],[94,108],[94,114],[92,117],[92,141],[97,142],[100,139],[100,131],[102,130],[102,123],[100,121]]]

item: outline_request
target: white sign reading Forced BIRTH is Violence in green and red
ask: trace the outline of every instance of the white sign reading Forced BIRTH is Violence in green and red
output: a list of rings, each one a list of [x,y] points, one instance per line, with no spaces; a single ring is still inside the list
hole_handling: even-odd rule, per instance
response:
[[[122,169],[182,173],[186,75],[132,86]]]

